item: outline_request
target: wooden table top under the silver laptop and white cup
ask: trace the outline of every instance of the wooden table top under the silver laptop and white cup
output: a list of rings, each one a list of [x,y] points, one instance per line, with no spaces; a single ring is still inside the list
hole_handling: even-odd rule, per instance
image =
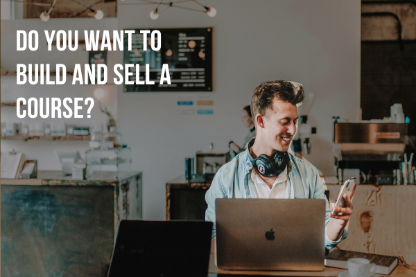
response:
[[[242,270],[222,270],[216,267],[216,255],[209,256],[209,276],[211,274],[232,274],[232,275],[266,275],[266,276],[333,276],[337,277],[340,272],[346,269],[338,269],[335,267],[325,267],[322,271],[242,271]],[[407,269],[404,266],[398,265],[393,269],[390,275],[376,274],[376,276],[390,276],[390,277],[416,277],[416,271]]]

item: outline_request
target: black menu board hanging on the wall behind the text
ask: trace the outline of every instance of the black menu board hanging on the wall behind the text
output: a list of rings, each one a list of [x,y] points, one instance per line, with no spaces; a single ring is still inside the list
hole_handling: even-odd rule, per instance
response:
[[[132,29],[128,29],[132,30]],[[212,91],[212,28],[166,28],[161,33],[161,48],[153,51],[148,35],[147,50],[143,34],[134,29],[132,51],[128,51],[128,35],[124,34],[124,64],[140,64],[140,79],[145,80],[146,64],[149,79],[155,84],[125,84],[125,92],[149,91]],[[152,32],[155,29],[146,29]],[[159,84],[162,64],[168,64],[171,84]],[[135,72],[135,66],[129,69]],[[136,73],[130,76],[136,80]]]

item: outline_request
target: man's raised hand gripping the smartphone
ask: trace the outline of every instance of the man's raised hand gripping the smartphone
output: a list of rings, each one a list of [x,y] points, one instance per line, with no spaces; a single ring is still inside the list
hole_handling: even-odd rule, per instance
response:
[[[327,235],[330,240],[337,241],[343,235],[345,226],[347,226],[349,217],[352,214],[352,202],[349,199],[348,195],[344,193],[345,207],[335,206],[335,203],[332,204],[333,211],[338,212],[338,215],[329,214],[329,217],[332,217],[334,220],[331,220],[327,226]]]

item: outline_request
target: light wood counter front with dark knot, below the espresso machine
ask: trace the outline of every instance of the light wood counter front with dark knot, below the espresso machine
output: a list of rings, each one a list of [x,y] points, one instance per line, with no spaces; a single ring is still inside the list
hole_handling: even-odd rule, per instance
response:
[[[336,198],[341,186],[327,185]],[[416,262],[416,186],[358,185],[347,239],[339,249]]]

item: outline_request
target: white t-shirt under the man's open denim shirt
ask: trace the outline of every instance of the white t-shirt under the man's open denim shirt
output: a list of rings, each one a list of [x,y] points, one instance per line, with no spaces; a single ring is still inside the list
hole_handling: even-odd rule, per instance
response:
[[[251,179],[256,188],[257,198],[269,198],[269,199],[288,199],[289,188],[288,183],[288,167],[286,166],[284,172],[281,172],[275,179],[275,182],[270,188],[264,181],[259,177],[256,170],[251,170]]]

